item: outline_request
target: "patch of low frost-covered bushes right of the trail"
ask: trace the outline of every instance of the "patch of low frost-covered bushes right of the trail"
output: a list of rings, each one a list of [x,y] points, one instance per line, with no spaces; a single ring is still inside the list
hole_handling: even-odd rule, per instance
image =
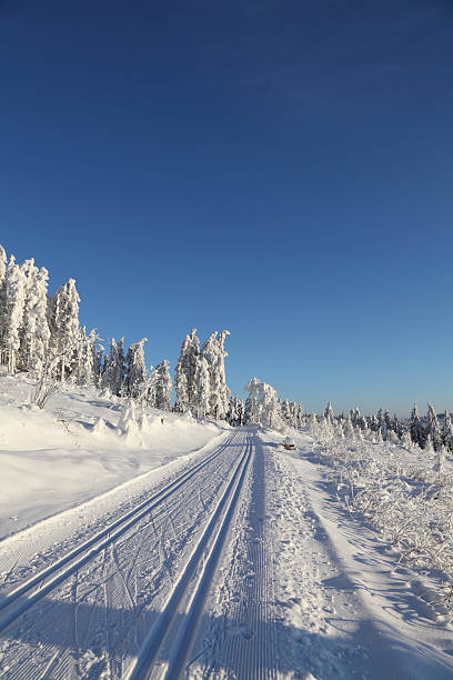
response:
[[[439,597],[453,593],[453,462],[445,449],[338,437],[334,426],[312,424],[339,498],[399,552],[400,561],[429,570]],[[348,429],[348,428],[346,428]],[[453,601],[452,601],[453,613]]]

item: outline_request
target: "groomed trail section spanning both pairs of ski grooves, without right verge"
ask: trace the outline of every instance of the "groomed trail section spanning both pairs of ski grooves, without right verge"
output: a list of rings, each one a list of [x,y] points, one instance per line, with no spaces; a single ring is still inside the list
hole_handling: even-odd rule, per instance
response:
[[[245,434],[232,433],[145,502],[6,592],[0,676],[122,678],[134,669],[140,677],[150,666],[145,640],[165,617],[181,616],[180,653],[173,658],[172,646],[165,654],[182,667],[250,456]]]

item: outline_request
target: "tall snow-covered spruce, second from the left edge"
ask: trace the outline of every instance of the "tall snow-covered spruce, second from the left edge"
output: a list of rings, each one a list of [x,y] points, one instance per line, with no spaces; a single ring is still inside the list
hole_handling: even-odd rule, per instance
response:
[[[47,318],[49,272],[43,267],[38,269],[32,259],[23,262],[22,271],[26,277],[26,303],[20,329],[20,359],[21,366],[33,378],[39,378],[50,340]]]

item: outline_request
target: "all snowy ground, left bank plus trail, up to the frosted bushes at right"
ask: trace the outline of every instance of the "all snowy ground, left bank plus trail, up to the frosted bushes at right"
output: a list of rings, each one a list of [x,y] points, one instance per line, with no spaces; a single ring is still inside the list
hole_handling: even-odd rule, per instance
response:
[[[344,442],[0,387],[1,520],[28,526],[0,542],[0,677],[453,677],[430,573],[348,511]]]

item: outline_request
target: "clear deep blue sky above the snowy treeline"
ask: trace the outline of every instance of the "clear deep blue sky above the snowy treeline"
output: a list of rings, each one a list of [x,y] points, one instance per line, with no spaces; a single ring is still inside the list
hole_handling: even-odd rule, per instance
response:
[[[0,243],[228,381],[453,410],[451,0],[6,0]]]

